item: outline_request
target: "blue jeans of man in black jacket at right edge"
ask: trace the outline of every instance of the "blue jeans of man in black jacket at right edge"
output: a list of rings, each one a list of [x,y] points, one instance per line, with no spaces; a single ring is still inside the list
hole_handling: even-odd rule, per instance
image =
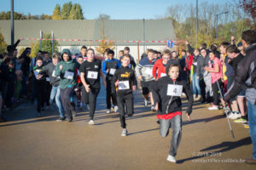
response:
[[[247,100],[248,121],[250,135],[253,142],[253,159],[256,160],[256,105]]]

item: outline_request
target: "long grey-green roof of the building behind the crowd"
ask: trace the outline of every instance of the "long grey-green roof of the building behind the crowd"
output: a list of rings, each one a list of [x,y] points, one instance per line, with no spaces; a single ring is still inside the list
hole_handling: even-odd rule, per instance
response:
[[[5,42],[10,44],[10,20],[0,20],[0,28]],[[143,20],[15,20],[15,41],[20,37],[39,38],[40,31],[44,34],[53,31],[56,39],[99,40],[102,39],[104,32],[104,36],[111,40],[143,41]],[[171,20],[145,20],[145,41],[165,41],[175,38]],[[30,44],[31,40],[23,40],[19,45]],[[88,44],[89,42],[84,41],[59,41],[61,46]],[[146,42],[146,44],[158,43]],[[91,45],[94,45],[94,42]],[[117,42],[117,45],[137,45],[137,43]]]

